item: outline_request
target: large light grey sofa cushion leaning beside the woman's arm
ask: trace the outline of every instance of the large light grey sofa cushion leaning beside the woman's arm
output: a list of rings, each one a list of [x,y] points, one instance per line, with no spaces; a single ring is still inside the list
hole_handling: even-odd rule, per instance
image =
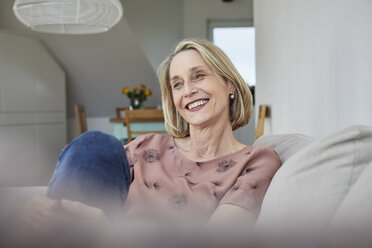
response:
[[[372,161],[371,151],[372,128],[364,126],[346,128],[303,148],[274,176],[256,227],[283,230],[327,226]],[[372,185],[368,181],[363,184]]]

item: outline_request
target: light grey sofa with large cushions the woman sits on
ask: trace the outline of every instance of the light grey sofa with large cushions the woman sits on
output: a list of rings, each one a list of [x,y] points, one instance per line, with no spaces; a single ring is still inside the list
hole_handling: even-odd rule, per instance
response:
[[[264,198],[257,230],[371,226],[371,127],[352,126],[321,139],[265,135],[255,145],[272,147],[282,161]],[[6,223],[17,205],[45,190],[0,189],[0,223]]]

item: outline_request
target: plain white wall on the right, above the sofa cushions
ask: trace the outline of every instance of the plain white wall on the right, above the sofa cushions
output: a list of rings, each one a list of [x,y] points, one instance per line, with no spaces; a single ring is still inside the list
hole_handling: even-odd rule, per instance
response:
[[[372,125],[372,1],[256,0],[258,104],[267,132]]]

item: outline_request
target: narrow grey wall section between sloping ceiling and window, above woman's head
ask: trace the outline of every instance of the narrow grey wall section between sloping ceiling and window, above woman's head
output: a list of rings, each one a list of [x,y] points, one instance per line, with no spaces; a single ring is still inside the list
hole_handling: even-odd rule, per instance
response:
[[[182,0],[122,0],[124,16],[156,71],[182,39]]]

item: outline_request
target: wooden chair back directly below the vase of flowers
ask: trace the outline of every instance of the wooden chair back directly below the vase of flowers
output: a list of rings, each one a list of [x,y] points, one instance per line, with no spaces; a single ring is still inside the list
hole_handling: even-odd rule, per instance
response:
[[[163,110],[161,109],[133,109],[125,110],[125,125],[127,126],[128,142],[132,141],[132,134],[167,133],[165,130],[134,131],[131,123],[135,122],[164,122]]]

